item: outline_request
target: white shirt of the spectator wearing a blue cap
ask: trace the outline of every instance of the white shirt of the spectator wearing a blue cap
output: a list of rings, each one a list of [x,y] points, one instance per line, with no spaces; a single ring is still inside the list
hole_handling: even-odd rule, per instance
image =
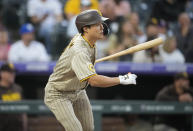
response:
[[[49,61],[49,56],[42,43],[31,41],[26,46],[22,40],[14,43],[9,51],[8,59],[11,62]]]

